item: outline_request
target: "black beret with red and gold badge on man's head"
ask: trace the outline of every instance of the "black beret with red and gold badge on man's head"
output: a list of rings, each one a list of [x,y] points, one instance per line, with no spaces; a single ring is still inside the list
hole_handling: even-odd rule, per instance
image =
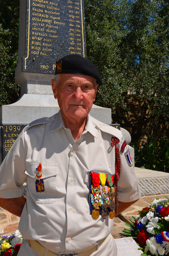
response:
[[[95,65],[88,59],[78,54],[67,55],[56,61],[56,74],[79,74],[94,77],[99,85],[102,85],[102,78]]]

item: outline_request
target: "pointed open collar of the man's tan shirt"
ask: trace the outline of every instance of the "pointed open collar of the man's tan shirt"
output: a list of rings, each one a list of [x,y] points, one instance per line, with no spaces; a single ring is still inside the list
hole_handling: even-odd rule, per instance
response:
[[[58,130],[59,128],[64,128],[67,129],[65,127],[62,115],[61,115],[61,110],[58,111],[58,113],[56,114],[56,117],[54,119],[54,122],[52,124],[52,128],[50,129],[50,131],[54,131],[54,130]],[[92,120],[91,120],[91,116],[88,115],[87,116],[87,121],[86,121],[86,126],[85,126],[85,130],[84,133],[89,132],[93,137],[96,137],[96,133],[95,133],[95,128],[93,126]]]

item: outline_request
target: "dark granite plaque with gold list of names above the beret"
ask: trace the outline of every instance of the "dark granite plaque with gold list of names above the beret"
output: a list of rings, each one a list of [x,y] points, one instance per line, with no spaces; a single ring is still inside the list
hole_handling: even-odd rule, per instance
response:
[[[84,0],[26,0],[22,72],[54,74],[56,60],[86,57]]]

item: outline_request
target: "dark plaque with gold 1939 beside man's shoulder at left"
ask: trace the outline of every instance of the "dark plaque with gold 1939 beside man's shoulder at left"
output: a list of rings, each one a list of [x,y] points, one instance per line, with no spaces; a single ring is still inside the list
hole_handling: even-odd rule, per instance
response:
[[[27,124],[3,124],[2,126],[2,159],[12,147],[13,143],[20,135]]]

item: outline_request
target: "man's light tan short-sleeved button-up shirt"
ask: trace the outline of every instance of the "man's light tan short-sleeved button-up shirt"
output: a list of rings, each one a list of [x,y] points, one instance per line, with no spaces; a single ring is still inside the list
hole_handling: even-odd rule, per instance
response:
[[[33,121],[21,132],[0,167],[0,197],[22,196],[27,179],[27,200],[19,230],[24,239],[39,241],[52,252],[83,252],[97,245],[113,228],[113,219],[92,219],[89,212],[89,172],[115,174],[115,147],[124,138],[119,130],[88,116],[80,138],[74,142],[61,112]],[[127,150],[125,148],[124,152]],[[119,201],[139,199],[133,167],[120,152]],[[35,181],[42,164],[44,192]]]

